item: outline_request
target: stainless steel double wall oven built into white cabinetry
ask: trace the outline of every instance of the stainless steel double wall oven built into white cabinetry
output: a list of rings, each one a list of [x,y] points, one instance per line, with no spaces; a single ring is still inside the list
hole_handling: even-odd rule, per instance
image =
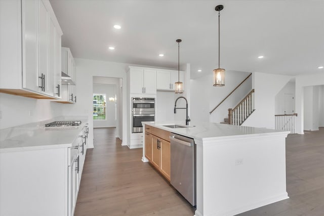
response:
[[[155,98],[132,98],[132,133],[142,133],[142,121],[155,120]]]

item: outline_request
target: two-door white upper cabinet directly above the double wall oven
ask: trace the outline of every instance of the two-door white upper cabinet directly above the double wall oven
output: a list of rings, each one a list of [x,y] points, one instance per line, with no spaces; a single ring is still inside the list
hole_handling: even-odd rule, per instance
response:
[[[130,67],[130,93],[156,94],[156,70]]]

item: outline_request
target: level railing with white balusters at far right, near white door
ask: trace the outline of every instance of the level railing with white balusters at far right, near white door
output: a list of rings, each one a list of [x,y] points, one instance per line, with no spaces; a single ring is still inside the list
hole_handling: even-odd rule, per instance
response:
[[[275,129],[280,131],[290,131],[291,134],[296,134],[296,118],[297,113],[274,115]]]

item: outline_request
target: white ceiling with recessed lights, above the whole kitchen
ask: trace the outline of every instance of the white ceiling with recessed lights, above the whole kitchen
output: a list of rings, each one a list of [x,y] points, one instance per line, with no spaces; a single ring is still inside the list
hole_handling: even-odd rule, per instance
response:
[[[218,68],[297,75],[324,73],[323,0],[51,0],[75,58],[178,68],[191,78]],[[121,25],[121,29],[113,25]],[[115,50],[108,50],[114,46]],[[165,54],[159,57],[158,54]],[[258,59],[258,56],[264,56]],[[198,69],[203,72],[197,72]]]

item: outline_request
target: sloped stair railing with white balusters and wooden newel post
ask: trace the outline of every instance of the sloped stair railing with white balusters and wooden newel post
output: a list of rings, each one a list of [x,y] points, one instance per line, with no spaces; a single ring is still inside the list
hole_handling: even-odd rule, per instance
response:
[[[236,107],[228,109],[228,123],[241,125],[255,110],[253,105],[254,89]]]

